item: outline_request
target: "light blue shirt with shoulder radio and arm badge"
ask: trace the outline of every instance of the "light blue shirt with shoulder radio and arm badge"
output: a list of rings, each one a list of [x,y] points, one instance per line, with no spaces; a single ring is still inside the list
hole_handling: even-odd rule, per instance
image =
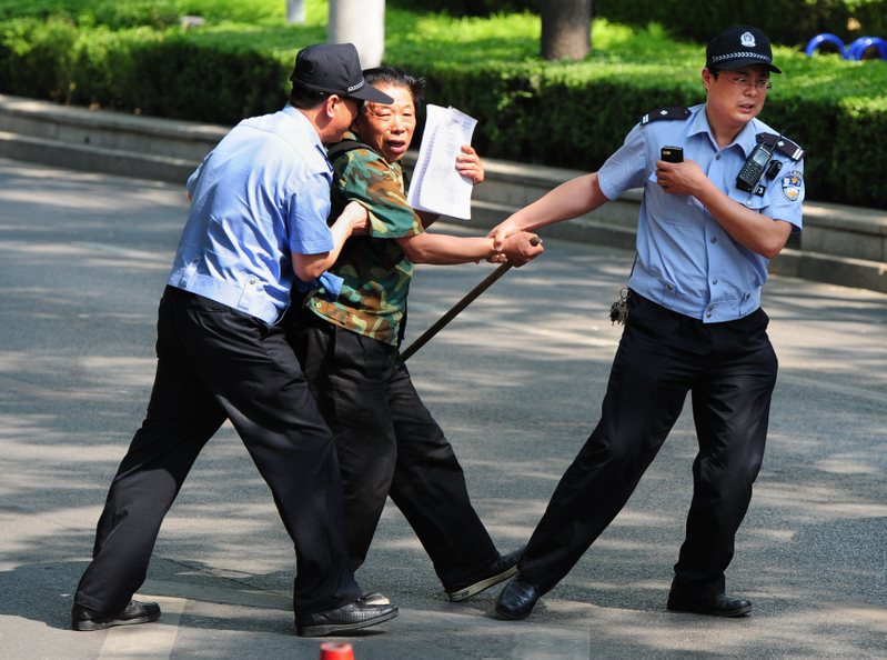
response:
[[[656,182],[663,147],[683,147],[684,160],[698,164],[736,203],[802,228],[804,162],[777,151],[782,169],[765,180],[763,196],[736,187],[736,177],[757,143],[758,133],[777,133],[757,119],[734,142],[717,147],[705,106],[684,120],[636,126],[598,171],[602,192],[616,199],[643,188],[637,226],[637,258],[629,287],[667,309],[704,322],[740,319],[760,306],[768,260],[735,241],[693,196],[669,194]]]

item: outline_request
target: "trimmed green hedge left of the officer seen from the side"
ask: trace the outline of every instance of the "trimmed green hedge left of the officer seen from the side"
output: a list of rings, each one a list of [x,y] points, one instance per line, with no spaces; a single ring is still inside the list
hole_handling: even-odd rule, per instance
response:
[[[0,23],[0,91],[233,126],[283,106],[295,54],[258,51],[262,28],[234,29],[83,30],[60,19],[16,19]],[[303,46],[324,40],[323,31],[304,31]]]

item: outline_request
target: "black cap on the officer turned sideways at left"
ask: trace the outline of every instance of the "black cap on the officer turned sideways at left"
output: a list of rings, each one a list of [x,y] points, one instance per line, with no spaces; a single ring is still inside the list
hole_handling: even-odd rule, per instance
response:
[[[390,96],[364,82],[361,59],[353,43],[317,43],[300,50],[290,80],[327,94],[386,106],[394,102]]]

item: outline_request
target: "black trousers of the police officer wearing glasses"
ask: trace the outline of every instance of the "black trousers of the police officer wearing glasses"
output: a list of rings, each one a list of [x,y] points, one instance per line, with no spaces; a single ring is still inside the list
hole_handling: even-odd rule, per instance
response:
[[[705,324],[635,292],[601,421],[561,479],[518,563],[547,591],[628,501],[687,392],[699,452],[674,588],[724,592],[724,571],[764,457],[777,361],[763,310]]]

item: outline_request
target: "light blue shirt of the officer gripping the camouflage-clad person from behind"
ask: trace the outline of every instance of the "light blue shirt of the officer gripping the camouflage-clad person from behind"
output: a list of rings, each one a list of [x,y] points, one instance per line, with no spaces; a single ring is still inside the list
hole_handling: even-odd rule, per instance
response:
[[[241,121],[188,180],[193,196],[171,287],[266,323],[290,304],[292,253],[333,249],[326,227],[332,168],[311,122],[296,109]],[[341,280],[324,276],[337,292]]]

